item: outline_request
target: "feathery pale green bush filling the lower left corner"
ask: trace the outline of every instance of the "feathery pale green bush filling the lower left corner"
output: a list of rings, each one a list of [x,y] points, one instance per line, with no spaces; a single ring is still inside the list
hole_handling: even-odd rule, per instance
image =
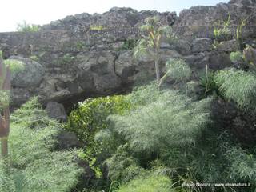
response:
[[[59,126],[46,117],[36,98],[14,112],[10,156],[7,161],[0,160],[2,192],[68,191],[77,184],[82,173],[75,163],[77,151],[53,150]]]

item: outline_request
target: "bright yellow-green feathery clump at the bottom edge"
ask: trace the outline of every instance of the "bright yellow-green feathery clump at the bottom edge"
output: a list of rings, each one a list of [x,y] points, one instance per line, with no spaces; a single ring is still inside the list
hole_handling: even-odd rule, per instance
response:
[[[172,192],[172,182],[170,178],[162,175],[149,175],[145,178],[136,178],[120,187],[118,192]]]

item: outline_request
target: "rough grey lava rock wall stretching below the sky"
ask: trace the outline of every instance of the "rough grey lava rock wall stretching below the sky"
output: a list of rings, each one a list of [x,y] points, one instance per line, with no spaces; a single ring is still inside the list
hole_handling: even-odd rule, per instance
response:
[[[129,90],[142,71],[154,74],[150,58],[134,59],[123,45],[138,38],[138,26],[145,18],[158,15],[173,25],[181,37],[176,45],[162,44],[162,66],[167,58],[185,58],[194,69],[220,69],[231,64],[229,53],[234,42],[212,50],[212,27],[230,14],[234,26],[247,18],[245,39],[254,39],[255,0],[232,0],[217,6],[196,6],[175,13],[158,13],[114,7],[104,14],[76,14],[43,26],[34,33],[0,33],[0,49],[5,58],[26,63],[26,70],[13,78],[13,105],[32,95],[43,102],[78,102],[87,97]],[[98,28],[101,30],[97,30]],[[38,62],[30,60],[37,56]]]

